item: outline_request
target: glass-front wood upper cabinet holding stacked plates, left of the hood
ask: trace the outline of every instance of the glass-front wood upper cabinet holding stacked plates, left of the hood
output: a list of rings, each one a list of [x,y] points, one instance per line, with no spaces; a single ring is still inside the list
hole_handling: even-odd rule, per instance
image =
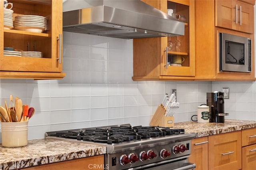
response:
[[[43,33],[4,28],[4,9],[0,8],[0,78],[61,79],[62,73],[62,1],[8,0],[15,16],[37,15],[48,20]],[[0,0],[0,4],[3,4]],[[4,47],[18,51],[40,51],[39,57],[4,55]]]

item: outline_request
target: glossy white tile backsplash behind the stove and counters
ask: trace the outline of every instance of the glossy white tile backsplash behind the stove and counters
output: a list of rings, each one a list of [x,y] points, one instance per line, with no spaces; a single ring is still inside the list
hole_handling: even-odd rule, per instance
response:
[[[177,89],[175,122],[190,121],[206,93],[230,88],[225,119],[256,120],[256,83],[133,81],[133,40],[63,33],[61,80],[0,79],[0,104],[10,94],[35,108],[28,139],[46,131],[128,123],[148,126],[164,93]]]

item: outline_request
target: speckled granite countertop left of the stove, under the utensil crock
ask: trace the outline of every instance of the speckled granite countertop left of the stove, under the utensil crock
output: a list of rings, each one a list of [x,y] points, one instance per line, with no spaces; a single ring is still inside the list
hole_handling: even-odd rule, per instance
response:
[[[100,154],[106,154],[106,146],[54,139],[28,140],[27,146],[19,148],[0,145],[0,169],[26,168]]]

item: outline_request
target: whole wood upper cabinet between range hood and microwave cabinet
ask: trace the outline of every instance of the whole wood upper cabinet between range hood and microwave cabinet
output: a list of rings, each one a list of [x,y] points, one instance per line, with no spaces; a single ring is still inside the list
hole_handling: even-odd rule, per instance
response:
[[[193,80],[195,75],[194,0],[142,0],[167,13],[186,18],[185,35],[133,40],[133,80]],[[153,24],[153,23],[152,23]],[[181,46],[168,49],[168,42]],[[176,56],[183,57],[182,66],[171,65]],[[167,65],[166,65],[167,63]]]

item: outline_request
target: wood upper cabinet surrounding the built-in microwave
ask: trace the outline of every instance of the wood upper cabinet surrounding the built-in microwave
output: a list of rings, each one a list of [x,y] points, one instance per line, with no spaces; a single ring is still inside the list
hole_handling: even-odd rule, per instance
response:
[[[196,0],[195,1],[195,18],[196,18],[196,76],[195,80],[204,81],[255,81],[254,76],[254,34],[227,29],[232,27],[230,15],[234,12],[234,7],[225,7],[223,4],[233,4],[233,0]],[[244,4],[244,2],[239,3]],[[222,6],[218,5],[222,4]],[[217,8],[215,8],[216,6]],[[248,4],[249,5],[249,4]],[[228,5],[227,5],[228,6]],[[250,6],[250,5],[249,5]],[[220,14],[216,11],[222,9]],[[229,10],[228,10],[229,9]],[[246,8],[242,7],[242,11]],[[226,14],[221,14],[225,11]],[[244,15],[245,12],[242,12]],[[250,12],[251,13],[251,12]],[[216,16],[216,18],[215,18]],[[222,17],[219,17],[222,16]],[[246,16],[246,15],[244,15]],[[242,22],[245,21],[242,16]],[[250,27],[254,28],[254,17],[250,14]],[[225,19],[227,18],[227,19]],[[240,17],[239,17],[240,18]],[[240,20],[240,19],[239,19]],[[216,26],[215,23],[220,22],[223,27]],[[224,28],[225,27],[225,28]],[[239,28],[242,29],[242,28]],[[250,29],[249,29],[250,30]],[[250,38],[252,40],[252,71],[250,73],[220,71],[219,67],[219,36],[220,32],[233,34]]]

